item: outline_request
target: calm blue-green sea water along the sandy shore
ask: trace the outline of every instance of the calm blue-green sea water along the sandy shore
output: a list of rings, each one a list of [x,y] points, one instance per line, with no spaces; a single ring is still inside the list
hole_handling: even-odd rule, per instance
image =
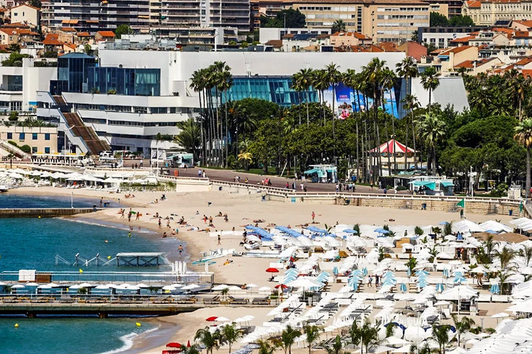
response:
[[[95,201],[74,198],[74,207],[92,206]],[[98,202],[98,200],[96,200]],[[26,197],[0,195],[0,207],[70,207],[70,198]],[[107,258],[118,252],[167,252],[177,249],[174,239],[157,239],[120,224],[103,227],[90,219],[13,218],[0,219],[0,272],[35,269],[39,271],[159,271],[170,268],[133,268],[115,265],[108,267],[55,265],[60,255],[70,263],[79,253],[93,258],[96,253]],[[108,242],[105,242],[105,241]],[[80,275],[80,279],[83,280]],[[136,322],[143,325],[138,327]],[[14,325],[18,323],[16,329]],[[96,319],[74,317],[0,317],[0,353],[118,353],[129,351],[138,333],[155,327],[142,319]]]

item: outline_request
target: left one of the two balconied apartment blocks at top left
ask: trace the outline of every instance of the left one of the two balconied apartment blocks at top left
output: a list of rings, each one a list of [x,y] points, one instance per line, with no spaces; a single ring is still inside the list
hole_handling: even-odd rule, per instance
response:
[[[50,0],[43,1],[42,23],[50,28],[74,28],[92,35],[118,25],[148,25],[149,0]]]

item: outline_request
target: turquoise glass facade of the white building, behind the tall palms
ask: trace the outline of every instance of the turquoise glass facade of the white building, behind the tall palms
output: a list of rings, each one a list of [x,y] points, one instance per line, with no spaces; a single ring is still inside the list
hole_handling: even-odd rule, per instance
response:
[[[222,103],[225,102],[225,96],[222,95]],[[233,86],[228,91],[228,100],[238,101],[243,98],[260,98],[286,107],[305,103],[306,91],[299,93],[292,89],[291,77],[234,76]],[[314,89],[309,90],[309,102],[318,102],[318,93]]]

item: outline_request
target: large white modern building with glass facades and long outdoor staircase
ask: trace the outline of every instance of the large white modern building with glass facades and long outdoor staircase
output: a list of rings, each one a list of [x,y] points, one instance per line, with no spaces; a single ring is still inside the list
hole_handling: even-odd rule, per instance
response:
[[[9,106],[6,111],[26,111],[37,105],[37,117],[56,122],[59,144],[66,136],[72,151],[96,154],[126,149],[149,156],[153,149],[176,147],[171,142],[179,134],[176,123],[199,113],[199,97],[189,79],[194,71],[216,61],[231,67],[233,87],[228,96],[232,101],[253,97],[289,106],[306,96],[292,89],[291,76],[300,69],[334,62],[340,71],[360,72],[374,57],[394,68],[404,56],[404,52],[101,50],[96,67],[94,58],[71,53],[57,59],[57,68],[34,67],[32,59],[24,59],[23,67],[0,67],[0,104]],[[419,90],[416,86],[416,93],[423,96]],[[453,102],[455,108],[467,105],[461,78],[442,83],[434,92],[433,101],[445,103],[439,92],[460,93],[453,96],[458,101]],[[309,97],[318,100],[315,91],[309,91]]]

